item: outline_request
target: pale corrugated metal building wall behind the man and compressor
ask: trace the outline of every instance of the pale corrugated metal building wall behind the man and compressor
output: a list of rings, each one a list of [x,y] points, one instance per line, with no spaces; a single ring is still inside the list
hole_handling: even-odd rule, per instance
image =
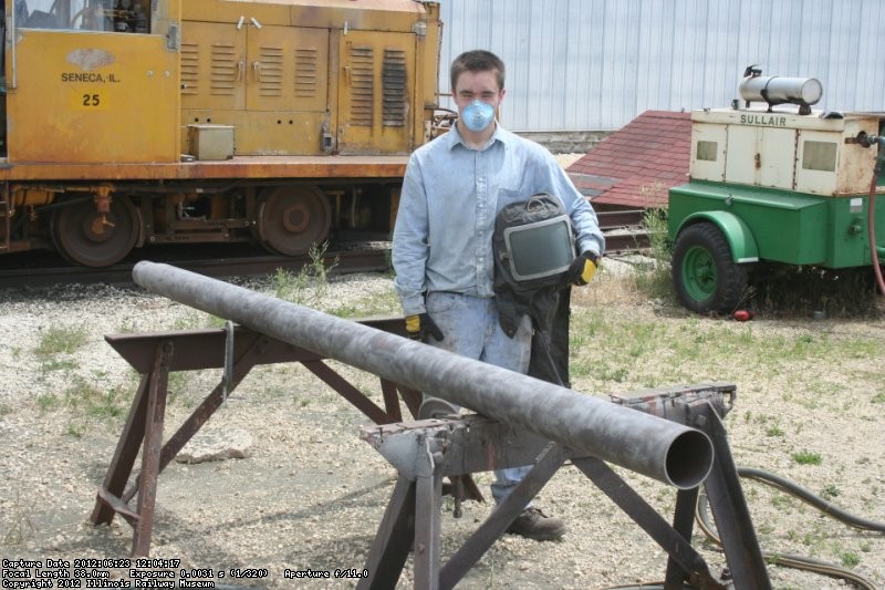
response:
[[[616,130],[728,106],[745,69],[816,77],[815,108],[885,111],[885,0],[440,0],[440,91],[460,52],[508,66],[513,131]]]

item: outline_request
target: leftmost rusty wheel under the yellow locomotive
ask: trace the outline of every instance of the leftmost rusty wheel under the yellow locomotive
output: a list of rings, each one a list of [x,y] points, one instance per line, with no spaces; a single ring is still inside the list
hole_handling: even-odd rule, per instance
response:
[[[138,239],[138,214],[125,196],[115,196],[111,210],[100,214],[95,203],[81,200],[52,215],[52,241],[71,262],[107,267],[122,260]]]

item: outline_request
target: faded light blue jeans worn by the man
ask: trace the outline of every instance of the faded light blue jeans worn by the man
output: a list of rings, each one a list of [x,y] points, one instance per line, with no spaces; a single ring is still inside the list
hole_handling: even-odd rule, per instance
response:
[[[512,339],[501,330],[494,299],[461,293],[431,292],[427,314],[442,331],[442,341],[428,337],[428,344],[518,373],[529,370],[531,359],[531,319],[523,315]],[[499,504],[519,484],[531,465],[494,470],[491,495]]]

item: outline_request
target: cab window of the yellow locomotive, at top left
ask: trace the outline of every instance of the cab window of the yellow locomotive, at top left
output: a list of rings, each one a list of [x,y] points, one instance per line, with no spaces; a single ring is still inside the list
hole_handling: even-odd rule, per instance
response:
[[[149,0],[15,0],[15,25],[66,31],[150,32]]]

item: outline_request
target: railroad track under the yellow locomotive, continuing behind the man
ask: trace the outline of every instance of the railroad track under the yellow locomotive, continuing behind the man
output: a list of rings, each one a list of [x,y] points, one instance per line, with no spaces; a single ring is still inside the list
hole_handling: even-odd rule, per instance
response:
[[[648,234],[642,225],[642,210],[601,211],[600,227],[608,256],[648,248]],[[383,241],[343,242],[326,252],[326,268],[333,273],[375,272],[389,269],[389,245]],[[250,245],[181,245],[150,247],[137,251],[122,263],[91,269],[70,266],[51,252],[23,252],[0,258],[0,289],[42,289],[58,284],[132,284],[132,268],[139,260],[167,262],[215,278],[254,277],[285,269],[299,272],[313,263],[308,256],[269,255]]]

